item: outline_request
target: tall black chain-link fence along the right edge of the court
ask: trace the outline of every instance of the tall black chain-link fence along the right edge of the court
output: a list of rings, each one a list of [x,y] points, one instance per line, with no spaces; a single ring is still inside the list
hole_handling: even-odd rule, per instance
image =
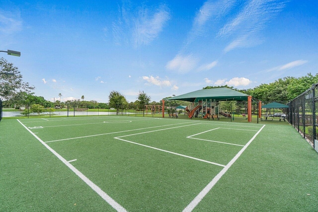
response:
[[[289,102],[289,123],[318,151],[318,83]]]

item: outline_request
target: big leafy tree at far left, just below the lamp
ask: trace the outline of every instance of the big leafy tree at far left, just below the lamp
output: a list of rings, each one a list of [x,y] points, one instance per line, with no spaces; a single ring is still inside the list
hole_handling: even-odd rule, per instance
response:
[[[34,89],[28,82],[23,82],[22,74],[12,63],[0,58],[0,73],[13,73],[14,75],[0,74],[0,96],[12,102],[19,101],[20,93],[31,93]]]

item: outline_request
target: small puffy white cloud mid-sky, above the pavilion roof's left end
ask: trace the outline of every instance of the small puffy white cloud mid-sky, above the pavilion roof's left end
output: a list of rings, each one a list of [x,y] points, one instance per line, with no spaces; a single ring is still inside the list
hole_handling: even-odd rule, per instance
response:
[[[198,61],[199,60],[192,55],[177,55],[171,61],[169,61],[165,67],[169,70],[177,71],[179,73],[187,73],[196,67]]]

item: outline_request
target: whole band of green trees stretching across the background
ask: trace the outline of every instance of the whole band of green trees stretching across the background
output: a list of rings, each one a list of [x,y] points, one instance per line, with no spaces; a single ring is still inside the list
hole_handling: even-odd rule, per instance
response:
[[[14,75],[7,75],[6,73],[14,73]],[[234,87],[229,87],[228,85],[224,86],[206,86],[203,89],[208,88],[218,88],[218,87],[228,87],[239,92],[248,94],[257,100],[263,102],[272,102],[279,101],[281,103],[288,103],[307,89],[309,89],[312,84],[318,82],[318,73],[313,75],[312,73],[307,73],[305,76],[301,77],[292,77],[287,76],[284,78],[279,78],[274,82],[269,84],[260,84],[254,88],[249,89],[236,89]],[[97,101],[84,101],[84,96],[81,96],[81,99],[78,100],[68,100],[65,102],[61,101],[62,94],[59,93],[60,100],[51,102],[45,100],[42,96],[35,96],[32,93],[34,86],[29,85],[28,82],[22,80],[22,74],[18,71],[18,68],[14,67],[12,63],[8,63],[5,59],[0,58],[0,97],[4,100],[3,105],[5,107],[18,107],[21,105],[30,105],[30,104],[40,104],[44,107],[50,108],[65,108],[76,107],[76,108],[117,108],[117,110],[126,107],[127,105],[139,105],[140,110],[144,110],[145,105],[162,105],[162,101],[151,102],[151,97],[147,95],[144,91],[139,91],[139,94],[135,102],[128,102],[126,97],[121,94],[119,91],[112,90],[109,93],[107,103],[99,103]],[[169,97],[165,97],[169,98]],[[164,98],[164,99],[165,99]],[[168,106],[170,105],[187,105],[188,102],[184,101],[167,101]],[[236,103],[236,109],[241,109],[244,107],[243,103]],[[233,107],[233,105],[232,105]]]

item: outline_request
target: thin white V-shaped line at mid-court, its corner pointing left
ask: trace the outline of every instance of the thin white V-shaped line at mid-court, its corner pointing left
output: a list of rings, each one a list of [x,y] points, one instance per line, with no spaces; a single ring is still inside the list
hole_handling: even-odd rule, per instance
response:
[[[156,149],[156,150],[159,150],[159,151],[163,151],[163,152],[167,152],[167,153],[179,155],[179,156],[182,156],[182,157],[187,157],[187,158],[191,158],[191,159],[194,159],[194,160],[199,160],[199,161],[206,162],[206,163],[210,163],[210,164],[213,164],[213,165],[218,165],[218,166],[225,167],[225,165],[220,164],[220,163],[215,163],[215,162],[203,160],[203,159],[200,159],[200,158],[191,157],[191,156],[188,156],[188,155],[179,154],[179,153],[176,153],[176,152],[172,152],[172,151],[168,151],[168,150],[156,148],[156,147],[153,147],[153,146],[149,146],[149,145],[145,145],[145,144],[141,144],[141,143],[137,143],[137,142],[133,142],[133,141],[128,141],[128,140],[120,139],[120,138],[128,137],[128,136],[135,136],[135,135],[141,135],[141,134],[146,134],[146,133],[153,133],[153,132],[158,132],[158,131],[162,131],[162,130],[171,130],[171,129],[175,129],[175,128],[188,127],[188,126],[199,125],[199,124],[202,124],[202,123],[191,124],[191,125],[185,125],[185,126],[178,126],[178,127],[172,127],[172,128],[165,128],[165,129],[160,129],[160,130],[153,130],[153,131],[148,131],[148,132],[143,132],[143,133],[136,133],[136,134],[126,135],[126,136],[119,136],[119,137],[115,137],[114,139],[118,139],[118,140],[121,140],[121,141],[126,141],[126,142],[129,142],[129,143],[134,143],[134,144],[137,144],[137,145],[145,146],[145,147],[152,148],[152,149]]]

